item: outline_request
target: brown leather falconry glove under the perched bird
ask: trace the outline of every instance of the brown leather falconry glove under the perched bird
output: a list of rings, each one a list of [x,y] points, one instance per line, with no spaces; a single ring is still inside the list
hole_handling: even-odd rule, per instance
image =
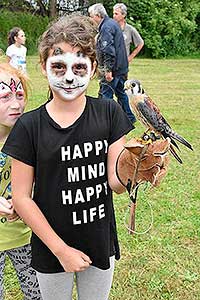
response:
[[[131,139],[118,157],[116,173],[120,182],[124,186],[131,182],[131,189],[143,182],[158,186],[166,175],[169,147],[169,138],[151,143]]]

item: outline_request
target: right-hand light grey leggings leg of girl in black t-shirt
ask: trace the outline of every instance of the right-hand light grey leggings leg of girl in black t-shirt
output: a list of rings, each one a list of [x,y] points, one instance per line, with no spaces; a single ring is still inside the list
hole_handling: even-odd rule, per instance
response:
[[[110,258],[110,268],[101,270],[90,266],[76,273],[78,300],[108,300],[114,273],[115,257]]]

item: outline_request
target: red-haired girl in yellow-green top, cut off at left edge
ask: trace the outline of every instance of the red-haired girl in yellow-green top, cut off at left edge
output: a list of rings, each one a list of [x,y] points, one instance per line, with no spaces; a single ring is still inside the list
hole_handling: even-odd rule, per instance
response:
[[[8,64],[0,64],[0,149],[22,115],[26,98],[25,78]],[[6,256],[17,272],[24,299],[41,299],[36,273],[30,267],[31,230],[14,209],[10,181],[11,158],[0,151],[0,299],[4,299]]]

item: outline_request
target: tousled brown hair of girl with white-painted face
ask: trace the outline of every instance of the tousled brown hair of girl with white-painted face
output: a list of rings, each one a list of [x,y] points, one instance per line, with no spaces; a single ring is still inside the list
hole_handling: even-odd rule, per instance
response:
[[[95,35],[96,28],[89,17],[71,14],[62,17],[50,24],[39,41],[40,62],[45,64],[49,56],[49,50],[53,45],[66,42],[72,47],[79,47],[84,55],[87,55],[93,63],[96,59]]]

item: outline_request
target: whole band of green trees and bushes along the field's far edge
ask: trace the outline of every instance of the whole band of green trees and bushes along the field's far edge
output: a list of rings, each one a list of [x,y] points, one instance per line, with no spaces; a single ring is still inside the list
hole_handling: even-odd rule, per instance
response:
[[[91,0],[8,0],[0,2],[0,47],[6,47],[6,35],[13,26],[27,34],[29,53],[36,51],[38,36],[48,22],[73,11],[87,13],[95,2],[105,6],[112,17],[113,5],[121,1]],[[137,28],[145,46],[142,55],[152,58],[188,56],[200,51],[199,0],[124,0],[128,7],[127,22]],[[11,15],[10,15],[11,13]],[[34,19],[34,22],[33,22]]]

